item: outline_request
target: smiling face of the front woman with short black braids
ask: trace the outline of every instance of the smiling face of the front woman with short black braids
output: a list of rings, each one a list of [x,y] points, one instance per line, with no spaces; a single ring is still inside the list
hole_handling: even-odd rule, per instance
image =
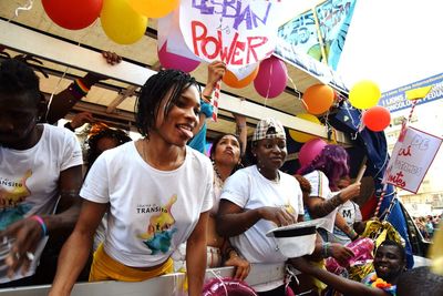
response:
[[[157,134],[168,144],[185,146],[186,142],[194,136],[193,130],[199,121],[198,90],[195,85],[190,85],[184,89],[176,100],[171,101],[169,96],[171,92],[159,104],[155,129],[151,135]]]

